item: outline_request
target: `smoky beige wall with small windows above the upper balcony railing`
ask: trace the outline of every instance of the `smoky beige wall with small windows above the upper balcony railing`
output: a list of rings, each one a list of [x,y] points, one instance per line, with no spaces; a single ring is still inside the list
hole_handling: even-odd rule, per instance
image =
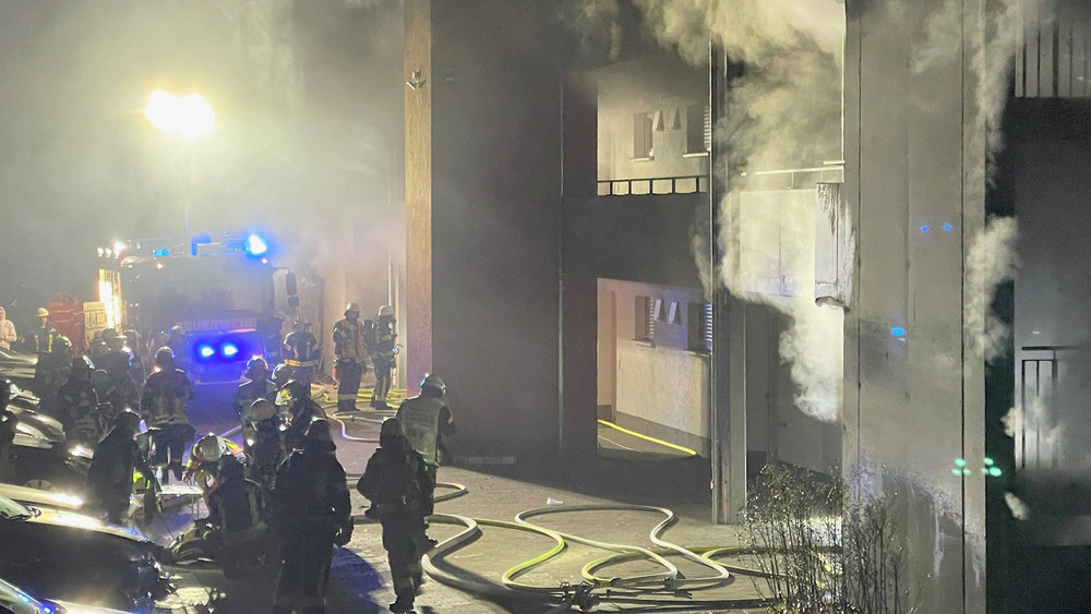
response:
[[[687,105],[708,103],[708,73],[678,57],[620,62],[592,73],[598,83],[598,176],[606,179],[706,174],[708,156],[687,156]],[[634,159],[634,113],[662,112],[651,159]],[[679,115],[679,128],[672,128]],[[698,120],[703,122],[703,119]]]

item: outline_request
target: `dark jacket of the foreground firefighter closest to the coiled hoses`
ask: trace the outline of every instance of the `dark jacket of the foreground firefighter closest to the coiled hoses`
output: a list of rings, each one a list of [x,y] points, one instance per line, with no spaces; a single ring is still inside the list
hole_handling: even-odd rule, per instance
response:
[[[381,518],[430,510],[434,487],[424,460],[406,448],[404,441],[376,449],[356,483],[356,490],[375,505]]]

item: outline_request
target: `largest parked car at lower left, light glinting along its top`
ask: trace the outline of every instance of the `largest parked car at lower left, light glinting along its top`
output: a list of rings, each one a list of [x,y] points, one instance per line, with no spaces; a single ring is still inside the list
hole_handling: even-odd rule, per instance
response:
[[[173,590],[161,552],[135,530],[0,496],[0,578],[37,599],[151,612]]]

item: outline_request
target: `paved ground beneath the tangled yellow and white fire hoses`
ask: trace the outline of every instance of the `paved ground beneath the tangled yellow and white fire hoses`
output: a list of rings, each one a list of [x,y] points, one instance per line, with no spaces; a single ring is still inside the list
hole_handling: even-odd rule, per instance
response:
[[[370,418],[370,420],[369,420]],[[361,416],[360,420],[346,425],[350,437],[377,438],[379,419],[373,412]],[[349,473],[360,473],[368,458],[375,449],[374,443],[350,442],[337,438],[338,458]],[[442,502],[436,513],[458,515],[479,519],[512,520],[519,511],[550,507],[562,510],[575,505],[619,505],[643,504],[663,506],[679,515],[679,522],[669,529],[664,539],[687,547],[731,546],[739,543],[735,528],[716,526],[708,521],[710,504],[707,501],[708,477],[700,459],[680,459],[657,463],[634,463],[616,460],[595,461],[590,465],[555,467],[551,471],[536,471],[520,475],[515,468],[500,472],[482,472],[468,468],[445,467],[440,470],[441,482],[465,485],[467,494]],[[351,485],[350,485],[351,487]],[[443,491],[441,491],[442,494]],[[352,491],[353,507],[358,513],[367,501]],[[655,547],[649,541],[649,532],[663,517],[649,511],[594,510],[570,511],[536,518],[540,526],[571,534],[597,540]],[[362,520],[362,519],[361,519]],[[430,535],[444,540],[458,532],[453,525],[434,522]],[[482,534],[465,547],[451,552],[436,561],[436,567],[458,578],[478,582],[500,585],[503,573],[518,563],[535,557],[553,543],[537,534],[501,527],[483,527]],[[518,578],[520,582],[540,587],[558,587],[563,581],[578,583],[582,568],[591,561],[611,554],[598,547],[571,544],[559,556],[531,569]],[[721,558],[724,564],[747,566],[753,562]],[[672,557],[671,562],[687,578],[707,576],[709,570],[693,563]],[[632,577],[655,574],[661,568],[646,561],[632,561],[601,568],[600,576]],[[191,569],[190,576],[196,583],[214,587],[226,593],[221,602],[224,612],[267,612],[274,587],[274,578],[248,578],[243,582],[227,582],[216,569]],[[192,580],[191,580],[192,582]],[[191,586],[183,594],[194,597],[204,589]],[[734,576],[723,587],[711,590],[692,590],[691,593],[658,593],[658,599],[670,599],[672,603],[620,604],[601,602],[596,612],[728,612],[723,609],[700,606],[705,600],[736,600],[762,597],[765,585],[746,576]],[[693,607],[684,604],[693,600]],[[386,553],[382,547],[381,528],[377,523],[358,523],[352,541],[347,547],[338,549],[334,555],[329,612],[381,613],[387,612],[387,604],[394,601],[391,588]],[[560,612],[555,606],[531,601],[489,601],[475,592],[459,590],[434,579],[424,585],[418,598],[417,612],[431,614],[491,614],[518,613],[538,614]],[[743,610],[736,610],[742,612]],[[754,609],[753,612],[762,612]]]

